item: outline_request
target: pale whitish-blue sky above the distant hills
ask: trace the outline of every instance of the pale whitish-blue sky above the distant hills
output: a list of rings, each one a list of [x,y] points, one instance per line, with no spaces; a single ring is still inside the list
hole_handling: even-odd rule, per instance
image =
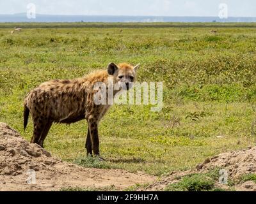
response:
[[[227,4],[229,17],[256,17],[255,0],[0,0],[0,14],[218,16]]]

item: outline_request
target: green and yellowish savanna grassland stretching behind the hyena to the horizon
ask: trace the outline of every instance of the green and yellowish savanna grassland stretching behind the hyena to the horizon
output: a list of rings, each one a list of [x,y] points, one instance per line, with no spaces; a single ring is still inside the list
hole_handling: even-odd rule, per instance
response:
[[[99,128],[106,161],[85,157],[85,120],[52,126],[45,149],[54,156],[163,175],[255,144],[256,24],[19,24],[10,34],[14,26],[0,24],[0,121],[27,140],[23,100],[42,82],[114,61],[140,63],[138,81],[164,85],[161,112],[115,105],[107,113]]]

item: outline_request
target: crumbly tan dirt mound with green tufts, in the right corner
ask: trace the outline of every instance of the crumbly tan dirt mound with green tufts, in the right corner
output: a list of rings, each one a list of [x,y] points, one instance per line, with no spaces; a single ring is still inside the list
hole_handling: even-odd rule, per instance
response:
[[[205,159],[204,163],[198,164],[195,170],[173,171],[170,175],[141,190],[163,190],[170,184],[178,184],[182,178],[188,175],[209,173],[214,169],[220,173],[217,175],[219,178],[215,180],[216,188],[226,191],[256,191],[256,147],[227,152]],[[221,171],[226,173],[228,184],[220,183],[219,179],[223,175]]]

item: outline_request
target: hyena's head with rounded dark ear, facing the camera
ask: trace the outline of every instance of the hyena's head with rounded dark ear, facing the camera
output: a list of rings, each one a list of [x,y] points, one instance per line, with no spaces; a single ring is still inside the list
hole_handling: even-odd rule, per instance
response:
[[[136,73],[140,64],[131,66],[130,64],[121,63],[115,64],[111,62],[108,64],[108,74],[113,76],[114,84],[118,84],[122,89],[131,89],[132,83],[136,80]]]

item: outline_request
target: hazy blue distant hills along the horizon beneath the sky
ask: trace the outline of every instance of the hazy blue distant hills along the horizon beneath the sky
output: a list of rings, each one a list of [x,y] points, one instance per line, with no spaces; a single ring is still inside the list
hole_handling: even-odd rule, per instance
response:
[[[26,13],[0,15],[0,22],[256,22],[256,17],[156,17],[100,15],[43,15],[27,18]]]

